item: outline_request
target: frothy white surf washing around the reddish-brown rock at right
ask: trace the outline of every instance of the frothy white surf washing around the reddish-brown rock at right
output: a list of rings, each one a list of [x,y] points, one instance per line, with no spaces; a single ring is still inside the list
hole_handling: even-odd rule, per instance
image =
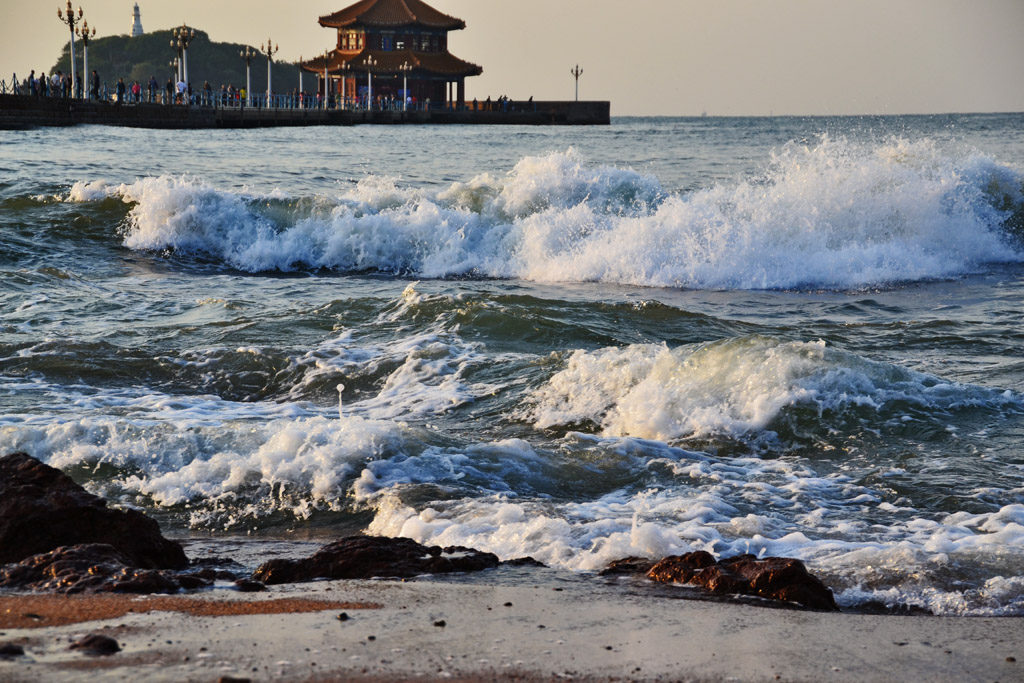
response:
[[[883,502],[883,493],[844,475],[820,477],[782,461],[717,459],[651,442],[637,449],[633,439],[566,438],[646,453],[643,467],[673,471],[676,483],[662,477],[666,483],[656,488],[586,502],[494,493],[404,503],[401,493],[410,484],[478,476],[477,459],[435,453],[368,464],[356,498],[376,511],[371,532],[470,546],[503,559],[529,555],[556,567],[597,570],[622,557],[657,559],[691,550],[787,556],[807,561],[846,605],[879,601],[942,614],[1024,610],[1020,505],[985,514],[921,515]],[[526,451],[528,459],[537,458],[522,443],[506,447],[509,455]],[[869,510],[890,514],[866,523],[845,514],[846,507],[860,518]],[[968,566],[973,583],[965,580],[962,567]]]

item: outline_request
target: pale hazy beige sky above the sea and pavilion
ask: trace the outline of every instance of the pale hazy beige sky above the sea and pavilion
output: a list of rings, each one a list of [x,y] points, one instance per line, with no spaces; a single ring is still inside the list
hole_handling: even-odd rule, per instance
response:
[[[267,36],[294,60],[334,44],[316,18],[354,0],[141,0],[145,31],[186,22],[215,41]],[[99,36],[130,0],[77,0]],[[1024,111],[1024,0],[433,0],[466,20],[467,97],[609,99],[613,115]],[[49,70],[56,0],[0,0],[0,74]],[[59,6],[63,7],[63,4]],[[173,55],[168,48],[168,59]]]

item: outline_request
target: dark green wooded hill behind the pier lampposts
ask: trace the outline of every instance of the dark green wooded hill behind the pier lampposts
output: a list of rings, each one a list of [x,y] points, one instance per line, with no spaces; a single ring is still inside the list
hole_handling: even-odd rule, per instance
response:
[[[174,75],[170,62],[177,56],[177,50],[170,47],[170,31],[154,31],[137,38],[130,36],[108,36],[94,38],[89,43],[89,71],[93,69],[99,74],[109,88],[113,89],[118,78],[131,84],[138,81],[144,88],[151,76],[157,77],[157,82],[163,86],[167,79]],[[63,47],[63,52],[56,65],[47,73],[57,70],[67,73],[71,69],[70,43]],[[246,46],[236,43],[214,43],[210,36],[196,30],[196,38],[188,46],[188,80],[193,88],[200,89],[204,81],[209,81],[215,90],[220,86],[233,85],[245,87],[246,62],[239,52]],[[254,48],[255,49],[255,48]],[[75,42],[75,66],[82,73],[82,44]],[[252,85],[254,92],[266,90],[266,57],[257,55],[252,61]],[[316,87],[315,76],[307,74],[303,77],[305,89]],[[298,67],[290,62],[274,62],[273,90],[276,93],[291,92],[299,87]]]

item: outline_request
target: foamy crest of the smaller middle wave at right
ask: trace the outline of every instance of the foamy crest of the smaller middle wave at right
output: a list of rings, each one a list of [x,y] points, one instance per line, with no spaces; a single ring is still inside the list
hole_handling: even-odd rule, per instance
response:
[[[894,401],[929,412],[1024,405],[1020,395],[945,382],[830,348],[750,336],[670,349],[665,344],[574,351],[532,395],[538,427],[591,422],[609,436],[669,440],[761,434],[781,411],[818,414]],[[885,418],[884,418],[885,419]]]

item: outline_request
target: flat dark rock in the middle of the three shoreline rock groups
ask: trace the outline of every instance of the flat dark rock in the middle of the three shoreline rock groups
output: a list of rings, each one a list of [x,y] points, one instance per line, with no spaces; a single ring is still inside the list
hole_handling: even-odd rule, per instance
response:
[[[291,584],[314,579],[407,579],[424,573],[479,571],[498,566],[498,556],[471,548],[424,546],[412,539],[351,536],[302,560],[270,560],[253,579]]]

